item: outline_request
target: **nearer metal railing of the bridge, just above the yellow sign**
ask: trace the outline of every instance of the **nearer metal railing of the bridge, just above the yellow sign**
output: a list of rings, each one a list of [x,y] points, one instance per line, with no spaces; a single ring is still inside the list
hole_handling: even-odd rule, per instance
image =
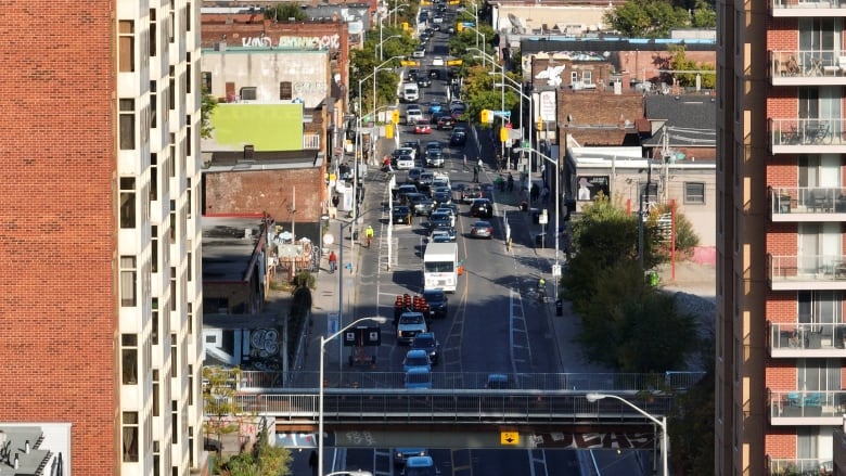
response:
[[[625,397],[652,415],[667,414],[675,401],[670,395]],[[244,411],[277,422],[309,424],[319,417],[318,395],[241,394],[238,399]],[[645,422],[616,400],[589,402],[585,393],[574,391],[328,389],[323,400],[324,421],[335,423]]]

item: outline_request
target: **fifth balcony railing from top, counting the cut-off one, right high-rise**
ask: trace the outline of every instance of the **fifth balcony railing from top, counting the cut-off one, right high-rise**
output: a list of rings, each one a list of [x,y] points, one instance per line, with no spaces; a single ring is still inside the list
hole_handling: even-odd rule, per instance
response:
[[[846,256],[769,255],[772,291],[846,290]]]

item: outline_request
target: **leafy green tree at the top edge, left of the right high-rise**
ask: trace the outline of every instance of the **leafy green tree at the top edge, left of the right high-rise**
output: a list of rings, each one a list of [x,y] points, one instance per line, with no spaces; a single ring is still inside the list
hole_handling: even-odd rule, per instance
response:
[[[605,23],[629,38],[666,38],[690,26],[690,16],[665,0],[629,0],[607,12]]]

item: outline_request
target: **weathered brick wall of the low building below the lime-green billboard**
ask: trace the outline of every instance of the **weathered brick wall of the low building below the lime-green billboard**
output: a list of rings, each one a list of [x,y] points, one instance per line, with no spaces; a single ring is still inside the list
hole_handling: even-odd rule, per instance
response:
[[[267,213],[277,222],[319,221],[326,203],[322,168],[206,172],[206,215]],[[296,188],[296,217],[292,198]]]

